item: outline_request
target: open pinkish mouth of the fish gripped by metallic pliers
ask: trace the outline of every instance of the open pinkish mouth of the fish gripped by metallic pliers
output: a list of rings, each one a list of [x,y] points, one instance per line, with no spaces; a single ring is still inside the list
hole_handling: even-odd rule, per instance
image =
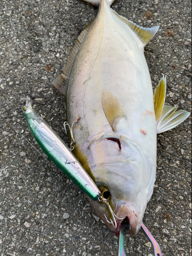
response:
[[[136,234],[138,233],[137,215],[131,209],[131,207],[129,207],[127,205],[121,205],[119,211],[117,212],[117,217],[121,218],[121,219],[124,218],[124,219],[119,220],[115,234],[116,235],[119,234],[122,222],[128,222],[130,236],[135,237]]]

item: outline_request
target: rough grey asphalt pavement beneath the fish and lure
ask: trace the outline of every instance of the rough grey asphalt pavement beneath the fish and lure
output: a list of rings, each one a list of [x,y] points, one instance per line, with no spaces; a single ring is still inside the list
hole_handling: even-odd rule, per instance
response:
[[[153,87],[166,75],[166,104],[190,112],[191,2],[116,0],[112,8],[140,26],[160,25],[145,47]],[[34,110],[69,143],[64,98],[50,79],[96,14],[79,0],[0,0],[1,256],[118,255],[118,237],[41,151],[22,113],[29,95]],[[191,255],[190,126],[191,116],[158,135],[157,181],[143,222],[166,256]],[[125,233],[125,251],[153,255],[142,231],[135,238]]]

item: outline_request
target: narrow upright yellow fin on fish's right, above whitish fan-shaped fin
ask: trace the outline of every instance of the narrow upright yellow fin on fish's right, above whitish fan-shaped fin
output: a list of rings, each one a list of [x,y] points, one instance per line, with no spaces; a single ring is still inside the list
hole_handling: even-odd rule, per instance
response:
[[[161,116],[161,112],[163,110],[163,106],[165,103],[165,95],[166,95],[166,77],[163,76],[163,78],[159,81],[159,84],[156,87],[154,92],[154,109],[155,109],[156,121],[158,121]]]

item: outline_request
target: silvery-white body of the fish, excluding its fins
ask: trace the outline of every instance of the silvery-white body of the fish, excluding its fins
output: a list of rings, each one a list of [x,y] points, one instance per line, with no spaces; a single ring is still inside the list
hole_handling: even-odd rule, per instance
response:
[[[115,96],[126,114],[116,131],[103,112],[103,90]],[[109,188],[116,215],[129,218],[135,235],[155,182],[157,132],[153,91],[143,44],[106,1],[101,2],[75,59],[67,91],[67,114],[69,123],[81,118],[74,129],[78,151],[87,157],[97,186]],[[111,137],[120,140],[121,150],[117,142],[106,139]],[[99,202],[91,204],[106,222],[105,206]]]

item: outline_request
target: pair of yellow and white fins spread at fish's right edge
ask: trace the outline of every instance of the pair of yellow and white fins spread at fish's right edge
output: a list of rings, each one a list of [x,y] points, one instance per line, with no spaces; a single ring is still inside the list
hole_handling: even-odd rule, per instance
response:
[[[173,106],[164,105],[166,94],[166,78],[160,80],[154,92],[154,108],[157,122],[157,134],[164,133],[182,123],[190,113],[178,110]]]

